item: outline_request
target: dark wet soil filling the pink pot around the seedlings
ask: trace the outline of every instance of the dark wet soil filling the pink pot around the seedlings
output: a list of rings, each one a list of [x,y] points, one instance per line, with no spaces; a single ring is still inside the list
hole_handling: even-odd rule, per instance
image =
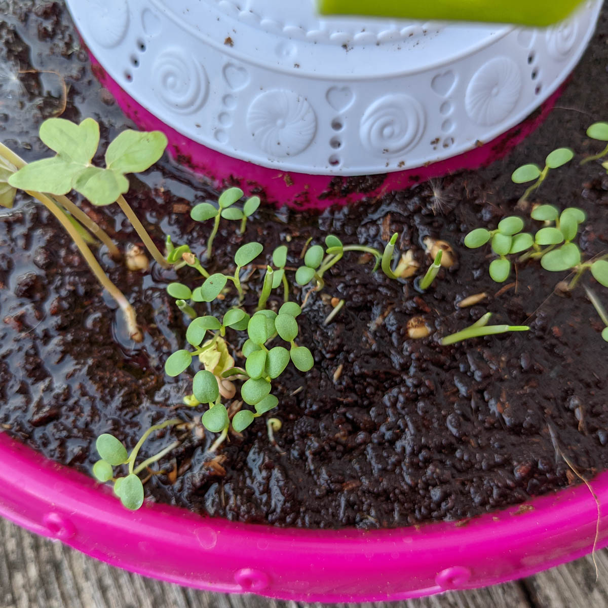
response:
[[[100,120],[102,140],[132,126],[92,77],[60,3],[29,10],[29,2],[0,0],[0,7],[8,13],[0,23],[0,66],[59,72],[67,86],[63,116]],[[423,238],[443,238],[457,263],[420,294],[411,282],[374,274],[358,254],[345,256],[326,274],[325,295],[311,296],[299,319],[301,342],[313,351],[315,365],[306,375],[290,367],[277,383],[280,407],[272,415],[283,422],[277,445],[258,420],[243,437],[230,437],[221,451],[226,474],[219,475],[207,463],[213,434],[198,427],[179,435],[181,447],[162,463],[179,474],[173,483],[166,474],[152,477],[146,485],[151,499],[248,522],[391,527],[471,517],[576,483],[560,453],[587,476],[608,468],[608,344],[584,290],[554,294],[566,273],[545,272],[534,262],[519,264],[513,280],[497,285],[488,277],[488,251],[463,246],[468,230],[494,227],[513,212],[522,192],[510,182],[513,168],[540,162],[560,145],[579,154],[598,148],[584,130],[607,118],[606,32],[604,12],[558,107],[504,161],[321,215],[266,208],[249,222],[246,239],[223,223],[213,268],[230,268],[233,252],[247,240],[264,243],[268,256],[289,244],[289,264],[297,265],[306,239],[322,243],[330,232],[344,243],[380,249],[399,232],[399,249],[412,249],[423,266],[429,263]],[[0,137],[33,160],[46,155],[36,133],[61,108],[60,78],[16,78],[0,81]],[[608,249],[608,176],[597,162],[580,168],[576,162],[554,172],[538,198],[586,210],[579,244],[591,257]],[[159,245],[168,233],[202,253],[209,227],[193,223],[188,212],[215,196],[163,159],[133,178],[128,199]],[[91,209],[86,202],[83,208],[121,247],[138,243],[119,210]],[[199,415],[180,406],[190,376],[172,379],[163,371],[168,354],[184,346],[185,319],[165,293],[178,274],[157,267],[149,274],[127,272],[99,253],[136,306],[145,330],[140,345],[125,339],[116,305],[40,204],[19,196],[15,209],[0,209],[0,424],[47,457],[85,472],[96,459],[98,434],[111,432],[132,447],[150,424]],[[179,271],[179,279],[195,277]],[[608,290],[589,276],[583,282],[608,304]],[[251,305],[258,272],[247,285]],[[458,308],[461,299],[480,292],[488,294],[483,302]],[[325,326],[331,297],[346,304]],[[230,303],[228,297],[212,310],[222,313]],[[273,295],[271,305],[278,304]],[[486,311],[494,313],[493,322],[531,329],[440,345],[442,336]],[[407,321],[419,315],[432,332],[409,339]],[[237,336],[229,339],[238,351]],[[154,437],[142,455],[169,440]]]

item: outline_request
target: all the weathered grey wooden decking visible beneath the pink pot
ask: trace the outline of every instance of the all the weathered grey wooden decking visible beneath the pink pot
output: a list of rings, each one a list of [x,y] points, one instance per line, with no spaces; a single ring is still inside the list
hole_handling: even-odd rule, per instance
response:
[[[608,552],[522,582],[446,593],[395,604],[340,604],[336,608],[606,608]],[[322,608],[257,596],[186,589],[95,561],[57,542],[0,520],[0,608]]]

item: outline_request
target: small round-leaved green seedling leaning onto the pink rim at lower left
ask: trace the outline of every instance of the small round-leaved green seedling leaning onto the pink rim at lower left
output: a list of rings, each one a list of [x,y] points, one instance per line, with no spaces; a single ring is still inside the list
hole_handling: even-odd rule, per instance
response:
[[[137,441],[136,446],[131,451],[131,454],[127,454],[126,447],[116,438],[114,435],[104,433],[97,437],[95,447],[101,457],[93,465],[94,477],[102,482],[113,482],[114,483],[114,494],[119,497],[120,502],[123,506],[133,511],[136,511],[143,505],[143,483],[139,478],[139,473],[148,468],[150,465],[155,463],[157,460],[161,460],[162,457],[167,455],[171,450],[174,450],[179,446],[179,441],[174,441],[165,449],[161,450],[157,454],[144,460],[137,467],[135,466],[135,460],[137,454],[145,440],[157,430],[164,429],[168,426],[174,426],[180,424],[182,421],[179,418],[171,418],[161,424],[154,424],[151,426]],[[128,474],[125,477],[118,477],[114,474],[114,468],[128,465]]]

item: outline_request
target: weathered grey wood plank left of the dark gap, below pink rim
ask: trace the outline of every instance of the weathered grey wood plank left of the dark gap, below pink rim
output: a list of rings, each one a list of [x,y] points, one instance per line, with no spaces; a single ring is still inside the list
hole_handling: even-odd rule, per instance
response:
[[[605,604],[597,604],[605,606]],[[185,589],[95,561],[0,520],[0,608],[321,608]],[[342,605],[346,608],[346,605]],[[387,604],[350,604],[385,608]],[[402,608],[530,608],[519,584],[416,599]],[[593,604],[587,603],[587,606]],[[337,607],[336,607],[337,608]],[[551,608],[553,608],[551,606]]]

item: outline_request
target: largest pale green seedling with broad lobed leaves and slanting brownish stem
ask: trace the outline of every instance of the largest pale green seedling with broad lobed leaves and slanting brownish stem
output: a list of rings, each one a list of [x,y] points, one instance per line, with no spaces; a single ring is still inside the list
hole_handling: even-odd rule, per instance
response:
[[[119,133],[106,149],[105,167],[92,164],[99,145],[99,125],[92,118],[80,125],[61,118],[45,120],[40,125],[40,139],[57,154],[19,168],[9,177],[9,184],[55,196],[76,190],[95,206],[117,202],[154,260],[167,268],[167,261],[123,197],[129,189],[126,174],[145,171],[160,159],[167,147],[165,134],[130,129]]]

